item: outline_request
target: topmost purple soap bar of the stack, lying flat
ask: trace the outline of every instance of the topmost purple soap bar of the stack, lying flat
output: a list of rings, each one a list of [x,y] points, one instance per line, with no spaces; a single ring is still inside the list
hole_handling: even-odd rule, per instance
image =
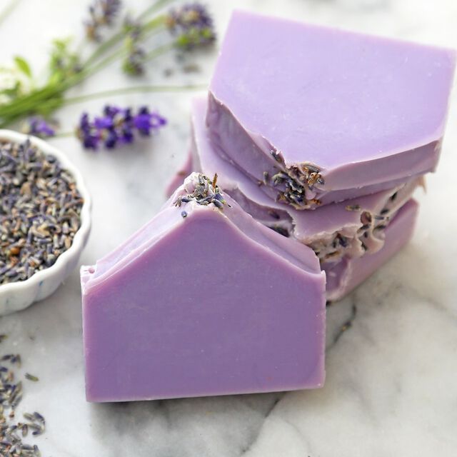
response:
[[[216,152],[296,209],[433,171],[456,54],[233,13],[206,117]]]

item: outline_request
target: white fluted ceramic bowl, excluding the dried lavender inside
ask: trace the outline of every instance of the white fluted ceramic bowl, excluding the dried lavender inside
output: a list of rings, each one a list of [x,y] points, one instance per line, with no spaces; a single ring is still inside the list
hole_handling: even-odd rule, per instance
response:
[[[70,171],[74,176],[76,187],[84,198],[84,204],[81,209],[81,227],[75,233],[71,247],[61,253],[54,265],[37,271],[26,281],[0,285],[0,316],[24,309],[34,301],[42,300],[56,291],[56,288],[76,267],[91,230],[91,198],[84,185],[81,173],[71,164],[66,155],[35,136],[0,129],[0,140],[22,143],[26,139],[29,139],[31,144],[37,146],[45,154],[56,156],[62,167]]]

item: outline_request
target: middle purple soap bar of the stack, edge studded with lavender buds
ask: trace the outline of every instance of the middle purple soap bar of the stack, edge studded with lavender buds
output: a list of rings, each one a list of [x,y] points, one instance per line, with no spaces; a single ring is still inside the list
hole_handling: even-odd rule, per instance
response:
[[[338,271],[344,277],[351,275],[351,281],[338,281],[339,276],[333,278],[333,284],[338,287],[330,291],[327,286],[328,299],[335,300],[350,292],[351,284],[355,287],[363,280],[357,281],[353,273],[348,273],[353,264],[350,261],[374,254],[383,247],[391,219],[411,198],[422,178],[411,179],[394,189],[322,206],[316,211],[297,211],[270,199],[257,184],[215,153],[204,123],[205,112],[205,99],[194,99],[191,154],[180,174],[189,169],[202,171],[207,176],[218,173],[224,190],[254,219],[313,248],[326,271]],[[177,179],[179,175],[173,184]]]

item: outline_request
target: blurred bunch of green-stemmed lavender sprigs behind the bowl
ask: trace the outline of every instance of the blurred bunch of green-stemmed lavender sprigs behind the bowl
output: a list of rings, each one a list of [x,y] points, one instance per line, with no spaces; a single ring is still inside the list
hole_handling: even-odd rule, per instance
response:
[[[9,83],[6,81],[8,84],[1,84],[0,81],[0,128],[22,121],[28,116],[43,116],[45,119],[50,119],[66,104],[79,103],[81,99],[91,99],[91,96],[85,95],[68,97],[66,93],[106,69],[114,61],[121,61],[127,74],[139,75],[144,73],[147,62],[172,49],[189,51],[214,42],[216,35],[213,22],[204,6],[188,4],[170,11],[169,14],[159,14],[159,9],[169,1],[171,0],[155,2],[151,0],[151,6],[142,14],[135,16],[136,24],[116,27],[114,34],[94,46],[93,51],[86,58],[81,54],[81,46],[74,48],[68,40],[54,41],[45,80],[39,81],[35,77],[32,78],[27,61],[16,57],[13,81]],[[85,21],[89,39],[99,39],[101,28],[114,24],[114,19],[119,16],[121,4],[121,0],[91,0],[90,18]],[[153,46],[152,49],[146,49],[144,43],[150,34],[155,34],[164,28],[171,31],[171,40],[159,46]],[[123,42],[124,46],[122,46]],[[26,80],[26,84],[21,82],[22,79]],[[129,93],[137,89],[156,91],[157,87],[129,87],[125,91],[112,89],[103,91],[101,94]],[[194,88],[189,86],[187,89]],[[84,126],[84,129],[88,131],[87,126]],[[88,144],[100,143],[98,139],[91,139],[90,135],[84,135],[84,138]]]

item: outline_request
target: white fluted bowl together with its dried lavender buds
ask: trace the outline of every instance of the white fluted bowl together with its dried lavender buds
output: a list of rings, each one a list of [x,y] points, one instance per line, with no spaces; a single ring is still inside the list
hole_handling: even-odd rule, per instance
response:
[[[76,267],[90,196],[61,151],[0,130],[0,316],[51,295]]]

